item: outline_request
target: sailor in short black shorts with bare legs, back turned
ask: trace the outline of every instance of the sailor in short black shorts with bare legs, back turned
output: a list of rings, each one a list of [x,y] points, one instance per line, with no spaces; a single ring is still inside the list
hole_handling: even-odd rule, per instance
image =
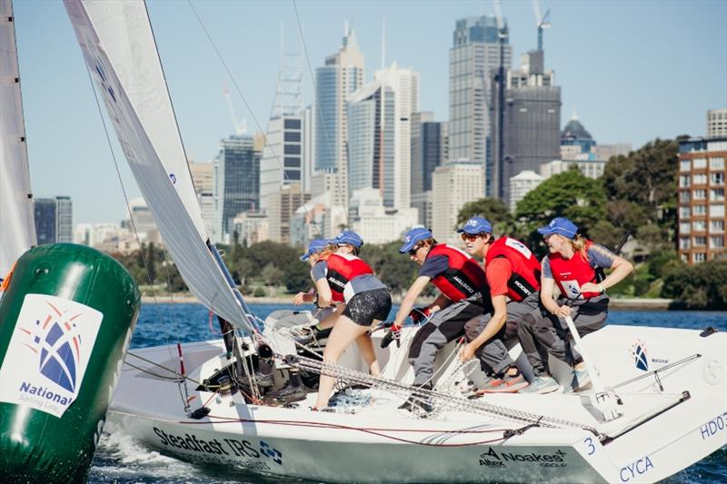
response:
[[[318,304],[344,305],[325,345],[324,362],[336,363],[356,341],[374,377],[380,373],[370,330],[374,321],[384,321],[392,309],[389,290],[373,275],[373,269],[358,257],[364,241],[356,232],[344,231],[334,239],[336,252],[324,250],[311,270]],[[321,375],[315,409],[323,410],[334,389],[335,378]]]

